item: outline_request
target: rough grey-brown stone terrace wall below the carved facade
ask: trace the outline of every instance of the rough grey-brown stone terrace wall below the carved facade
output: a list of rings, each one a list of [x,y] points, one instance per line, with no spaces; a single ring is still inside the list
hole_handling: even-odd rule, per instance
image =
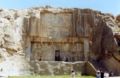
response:
[[[34,72],[41,75],[69,75],[74,68],[76,73],[83,73],[86,62],[55,62],[55,61],[41,61],[32,62]],[[79,70],[78,70],[79,69]]]

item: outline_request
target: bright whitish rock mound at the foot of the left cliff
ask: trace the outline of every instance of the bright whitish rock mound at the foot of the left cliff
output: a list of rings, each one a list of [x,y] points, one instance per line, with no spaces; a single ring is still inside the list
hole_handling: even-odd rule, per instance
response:
[[[7,52],[4,54],[4,61],[0,63],[0,75],[1,76],[19,76],[19,75],[30,75],[30,65],[25,61],[24,56],[14,54],[10,56]]]

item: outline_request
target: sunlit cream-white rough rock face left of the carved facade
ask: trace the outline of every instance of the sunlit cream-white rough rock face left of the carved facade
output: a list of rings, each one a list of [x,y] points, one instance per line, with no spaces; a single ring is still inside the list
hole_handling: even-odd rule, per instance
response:
[[[15,17],[17,11],[0,11],[0,75],[30,74],[30,65],[23,52],[23,17]]]

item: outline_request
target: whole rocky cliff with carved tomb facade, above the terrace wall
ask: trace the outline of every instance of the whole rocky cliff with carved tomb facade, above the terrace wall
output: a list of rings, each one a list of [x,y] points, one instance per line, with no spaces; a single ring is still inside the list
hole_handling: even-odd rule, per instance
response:
[[[119,30],[113,16],[90,9],[0,9],[0,73],[30,74],[28,60],[53,61],[56,50],[70,61],[106,60]]]

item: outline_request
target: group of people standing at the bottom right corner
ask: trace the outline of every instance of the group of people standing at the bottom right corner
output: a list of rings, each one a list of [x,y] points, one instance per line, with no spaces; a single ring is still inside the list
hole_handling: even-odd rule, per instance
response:
[[[96,78],[109,78],[110,76],[113,76],[112,72],[108,73],[100,70],[97,70],[96,72]]]

